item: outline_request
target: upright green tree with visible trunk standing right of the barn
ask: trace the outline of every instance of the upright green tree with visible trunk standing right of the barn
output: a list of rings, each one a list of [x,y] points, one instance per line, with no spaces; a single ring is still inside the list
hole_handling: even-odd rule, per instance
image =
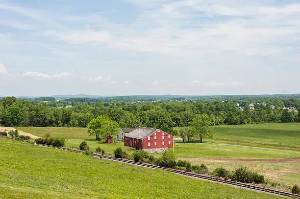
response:
[[[190,127],[193,132],[200,137],[200,142],[202,143],[202,139],[206,137],[212,137],[214,134],[214,130],[210,127],[210,118],[207,114],[197,115],[192,122],[190,122]]]

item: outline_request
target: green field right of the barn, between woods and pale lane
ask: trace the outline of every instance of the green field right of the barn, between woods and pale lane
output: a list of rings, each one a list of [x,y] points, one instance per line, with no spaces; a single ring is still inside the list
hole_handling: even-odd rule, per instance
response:
[[[179,127],[175,128],[179,130]],[[300,151],[300,123],[267,123],[214,126],[210,143],[236,144],[254,147]]]

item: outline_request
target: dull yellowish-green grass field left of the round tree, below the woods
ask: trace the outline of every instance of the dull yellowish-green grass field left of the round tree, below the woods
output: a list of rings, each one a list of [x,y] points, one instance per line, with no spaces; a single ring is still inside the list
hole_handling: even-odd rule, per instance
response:
[[[85,139],[91,138],[86,128],[68,128],[68,127],[16,127],[25,133],[44,137],[46,133],[50,133],[52,137],[66,137],[67,139]]]

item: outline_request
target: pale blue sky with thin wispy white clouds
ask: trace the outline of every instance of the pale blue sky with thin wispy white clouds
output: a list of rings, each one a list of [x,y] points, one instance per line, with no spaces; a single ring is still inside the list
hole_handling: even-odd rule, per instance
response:
[[[300,92],[299,0],[0,0],[0,95]]]

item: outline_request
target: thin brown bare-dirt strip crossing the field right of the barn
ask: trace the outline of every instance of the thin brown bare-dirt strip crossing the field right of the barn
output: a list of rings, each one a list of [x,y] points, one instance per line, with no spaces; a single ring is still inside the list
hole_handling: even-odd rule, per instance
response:
[[[191,162],[294,162],[300,163],[300,158],[278,158],[278,159],[259,159],[259,158],[192,158],[184,157]]]

